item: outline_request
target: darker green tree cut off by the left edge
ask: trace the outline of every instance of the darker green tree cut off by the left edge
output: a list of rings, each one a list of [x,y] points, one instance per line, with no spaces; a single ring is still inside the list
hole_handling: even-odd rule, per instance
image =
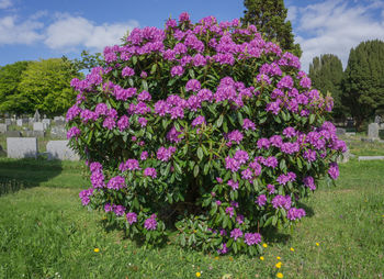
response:
[[[16,62],[0,68],[0,112],[21,114],[32,109],[19,90],[23,71],[29,64],[31,62]]]

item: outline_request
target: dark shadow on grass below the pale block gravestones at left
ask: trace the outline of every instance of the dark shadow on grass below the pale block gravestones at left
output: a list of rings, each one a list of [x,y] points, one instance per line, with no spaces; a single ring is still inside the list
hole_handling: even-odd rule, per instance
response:
[[[45,158],[0,159],[0,197],[23,189],[38,187],[60,175],[60,160]]]

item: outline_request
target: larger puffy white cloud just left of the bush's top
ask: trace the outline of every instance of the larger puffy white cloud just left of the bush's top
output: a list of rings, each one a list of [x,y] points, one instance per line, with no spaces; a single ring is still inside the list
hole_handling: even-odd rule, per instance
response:
[[[106,45],[120,44],[120,38],[134,27],[137,21],[124,23],[95,23],[81,18],[60,14],[58,19],[46,29],[44,43],[54,49],[76,48],[79,46],[102,51]]]

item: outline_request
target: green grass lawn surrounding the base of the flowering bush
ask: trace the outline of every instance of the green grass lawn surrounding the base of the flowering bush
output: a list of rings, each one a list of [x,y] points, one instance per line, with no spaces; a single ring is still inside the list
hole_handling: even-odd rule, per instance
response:
[[[81,207],[79,163],[55,164],[0,159],[0,177],[34,181],[0,197],[0,278],[275,278],[279,261],[284,278],[384,276],[382,161],[342,165],[338,186],[303,201],[308,216],[270,241],[264,260],[140,247]]]

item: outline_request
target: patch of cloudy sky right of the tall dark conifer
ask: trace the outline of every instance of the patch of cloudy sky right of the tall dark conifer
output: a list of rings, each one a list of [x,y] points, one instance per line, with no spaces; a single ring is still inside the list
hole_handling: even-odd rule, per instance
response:
[[[300,8],[296,19],[301,35],[296,40],[303,49],[303,69],[321,54],[337,55],[346,67],[352,47],[368,40],[384,40],[384,22],[374,15],[383,10],[381,1],[351,7],[341,0]]]

